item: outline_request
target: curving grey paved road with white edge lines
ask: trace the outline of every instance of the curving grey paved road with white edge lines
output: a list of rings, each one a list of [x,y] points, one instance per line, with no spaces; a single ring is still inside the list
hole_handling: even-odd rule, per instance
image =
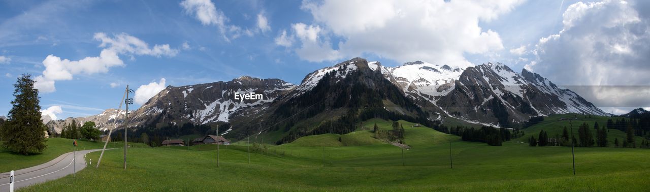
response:
[[[72,174],[73,170],[81,171],[81,169],[84,169],[86,164],[88,164],[88,162],[84,160],[84,156],[90,152],[100,150],[101,149],[77,151],[77,161],[75,165],[73,165],[73,152],[69,152],[62,154],[58,158],[47,163],[15,171],[14,190],[20,187],[62,178],[68,174]],[[96,159],[92,159],[92,161],[93,164],[97,163]],[[0,174],[0,191],[9,191],[9,172],[3,172]]]

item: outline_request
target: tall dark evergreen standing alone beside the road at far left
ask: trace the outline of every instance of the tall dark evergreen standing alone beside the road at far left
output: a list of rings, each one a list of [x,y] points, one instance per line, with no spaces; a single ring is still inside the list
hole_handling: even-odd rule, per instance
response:
[[[12,109],[0,130],[2,146],[23,155],[42,153],[47,148],[47,128],[40,119],[40,97],[34,82],[29,74],[18,77],[13,94],[16,99],[11,102]]]

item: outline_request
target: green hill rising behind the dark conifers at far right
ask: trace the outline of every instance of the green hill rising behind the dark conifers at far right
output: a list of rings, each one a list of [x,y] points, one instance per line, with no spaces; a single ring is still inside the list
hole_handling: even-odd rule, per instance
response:
[[[589,115],[577,115],[577,114],[560,114],[560,115],[551,115],[549,117],[544,117],[544,120],[542,122],[539,122],[538,124],[534,124],[533,126],[530,126],[528,128],[523,129],[525,135],[523,137],[519,137],[517,139],[513,139],[513,141],[519,141],[519,142],[528,142],[528,138],[530,138],[530,135],[533,135],[535,138],[538,138],[539,136],[539,131],[544,130],[547,131],[549,137],[555,137],[556,134],[562,135],[562,131],[564,131],[564,127],[567,128],[567,131],[569,131],[569,134],[571,134],[571,124],[573,124],[573,135],[575,137],[578,137],[578,128],[583,122],[586,122],[589,125],[589,128],[591,128],[591,134],[595,135],[596,131],[593,130],[593,124],[594,122],[598,122],[599,127],[603,127],[607,124],[607,120],[611,117],[601,117],[601,116],[595,116],[592,115],[591,117]],[[617,117],[621,118],[621,117]],[[614,146],[614,139],[618,138],[619,144],[623,142],[623,139],[625,139],[625,132],[620,131],[620,130],[614,130],[614,129],[608,129],[607,132],[607,140],[609,141],[609,146]],[[638,144],[643,141],[643,137],[635,137],[637,146]]]

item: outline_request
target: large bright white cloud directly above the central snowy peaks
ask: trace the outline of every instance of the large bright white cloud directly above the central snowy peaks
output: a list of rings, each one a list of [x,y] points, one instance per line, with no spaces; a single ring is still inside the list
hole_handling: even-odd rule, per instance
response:
[[[482,29],[478,23],[495,20],[520,3],[516,0],[303,1],[302,9],[310,12],[314,18],[314,23],[308,26],[321,28],[304,31],[311,33],[304,33],[305,38],[300,40],[303,44],[307,42],[309,49],[326,51],[326,54],[320,55],[322,60],[369,53],[399,62],[424,60],[471,66],[463,54],[503,49],[499,34]],[[296,25],[293,27],[295,29]],[[341,39],[337,49],[332,48],[328,38],[318,38],[318,44],[312,43],[315,37],[328,35],[324,31]],[[300,36],[300,32],[294,31],[296,36]],[[302,59],[317,56],[300,54],[300,49],[296,52]],[[305,49],[305,45],[302,49]]]

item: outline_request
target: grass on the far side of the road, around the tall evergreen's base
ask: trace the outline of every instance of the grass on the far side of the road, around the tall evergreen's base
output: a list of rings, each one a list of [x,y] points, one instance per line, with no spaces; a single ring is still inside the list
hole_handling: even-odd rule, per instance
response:
[[[24,169],[27,167],[32,167],[34,165],[40,165],[46,163],[54,158],[59,157],[62,154],[67,152],[72,152],[74,146],[72,145],[72,139],[63,139],[63,138],[49,138],[46,141],[47,150],[42,154],[34,154],[31,156],[23,156],[21,154],[14,154],[5,149],[0,149],[0,172],[8,172],[12,170]],[[103,142],[94,142],[94,141],[81,141],[77,140],[77,150],[87,150],[87,149],[96,149],[102,148],[104,146]],[[121,147],[123,146],[122,142],[112,142],[109,143],[107,148]],[[141,143],[131,143],[133,147],[146,147],[146,145]]]

